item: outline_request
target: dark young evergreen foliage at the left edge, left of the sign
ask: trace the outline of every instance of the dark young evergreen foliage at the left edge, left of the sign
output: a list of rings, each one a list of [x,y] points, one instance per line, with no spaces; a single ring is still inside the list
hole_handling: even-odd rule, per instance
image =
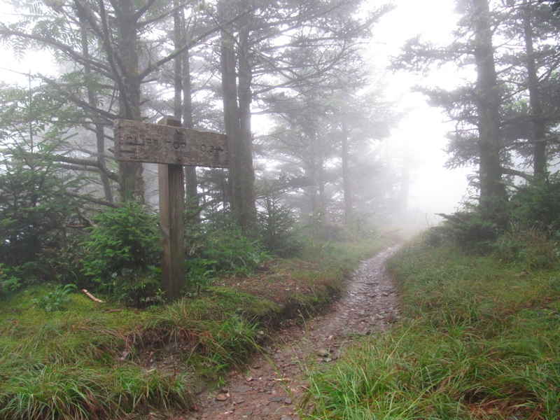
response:
[[[17,88],[1,94],[0,262],[27,276],[53,276],[41,262],[73,236],[67,225],[79,218],[85,179],[59,160],[69,135],[50,122],[57,104]]]

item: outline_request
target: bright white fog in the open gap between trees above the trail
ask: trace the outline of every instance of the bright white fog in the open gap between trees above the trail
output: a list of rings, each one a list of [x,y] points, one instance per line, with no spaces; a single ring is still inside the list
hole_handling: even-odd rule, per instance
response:
[[[372,0],[372,3],[377,3]],[[456,28],[454,2],[449,0],[398,0],[395,9],[376,25],[370,50],[372,66],[387,66],[407,39],[420,35],[426,41],[442,43]],[[437,213],[451,213],[468,197],[467,175],[472,168],[446,169],[445,134],[454,127],[440,109],[429,106],[422,94],[412,92],[414,85],[451,88],[461,82],[456,69],[434,70],[428,75],[386,72],[386,94],[405,111],[397,129],[384,139],[388,148],[407,144],[412,155],[408,204],[416,228],[440,221]]]

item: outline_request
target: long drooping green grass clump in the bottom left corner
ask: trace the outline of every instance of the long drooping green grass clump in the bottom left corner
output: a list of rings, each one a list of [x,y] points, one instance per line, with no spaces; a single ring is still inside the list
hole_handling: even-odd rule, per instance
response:
[[[0,419],[116,419],[148,407],[188,407],[187,383],[184,373],[134,365],[27,366],[3,384]]]

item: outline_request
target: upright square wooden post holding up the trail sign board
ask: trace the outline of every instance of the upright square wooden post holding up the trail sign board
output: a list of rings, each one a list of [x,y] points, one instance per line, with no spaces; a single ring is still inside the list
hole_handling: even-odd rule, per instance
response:
[[[158,124],[181,127],[181,121],[164,117]],[[185,284],[183,225],[184,183],[182,165],[158,165],[160,232],[162,235],[162,290],[166,300],[181,297]]]

